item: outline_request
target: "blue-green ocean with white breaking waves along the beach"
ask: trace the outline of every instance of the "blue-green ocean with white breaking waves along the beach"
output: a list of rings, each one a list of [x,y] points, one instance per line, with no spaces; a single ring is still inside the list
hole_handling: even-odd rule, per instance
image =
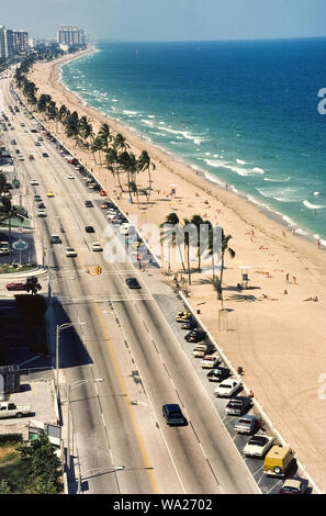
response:
[[[61,81],[326,246],[325,58],[326,38],[102,43]]]

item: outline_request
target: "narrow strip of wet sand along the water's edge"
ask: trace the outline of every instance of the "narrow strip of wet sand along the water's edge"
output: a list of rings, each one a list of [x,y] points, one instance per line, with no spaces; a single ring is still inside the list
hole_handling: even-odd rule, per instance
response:
[[[101,52],[101,51],[97,49],[97,47],[94,45],[92,45],[90,51],[87,52],[87,54],[91,55],[91,54],[97,53],[97,52]],[[223,179],[221,179],[218,176],[215,176],[213,172],[207,171],[207,170],[201,168],[200,166],[198,166],[195,164],[192,164],[191,161],[188,161],[186,158],[183,158],[182,156],[173,153],[172,150],[169,150],[169,149],[165,148],[164,146],[160,146],[159,144],[156,144],[149,137],[142,135],[142,133],[138,128],[136,128],[132,125],[128,125],[124,121],[115,119],[111,114],[108,114],[105,112],[100,111],[98,108],[92,106],[91,104],[88,104],[87,101],[85,99],[82,99],[79,96],[78,92],[70,89],[67,85],[65,85],[65,82],[61,79],[61,68],[66,64],[70,63],[71,60],[76,60],[76,59],[81,58],[81,57],[83,57],[83,56],[78,56],[76,58],[72,57],[71,59],[67,59],[67,61],[60,64],[58,66],[57,81],[65,90],[69,91],[71,94],[76,96],[77,99],[80,101],[80,103],[83,106],[95,111],[99,116],[105,117],[110,122],[109,125],[113,126],[113,124],[116,124],[117,126],[121,126],[121,132],[122,133],[123,132],[132,133],[133,135],[138,137],[142,142],[144,142],[144,144],[146,144],[150,147],[154,147],[158,152],[165,154],[168,158],[183,165],[188,169],[192,170],[192,172],[195,173],[196,176],[202,177],[209,184],[211,184],[215,188],[218,188],[221,190],[224,190],[225,187],[227,186],[229,191],[233,191],[236,195],[244,199],[250,205],[254,205],[257,209],[257,211],[260,214],[262,214],[263,216],[268,217],[269,220],[274,221],[282,228],[284,228],[284,229],[286,229],[291,233],[292,233],[292,231],[294,231],[295,237],[300,237],[304,242],[316,245],[317,242],[319,240],[321,242],[321,250],[323,250],[323,251],[326,250],[326,240],[323,237],[321,237],[319,235],[316,235],[316,233],[314,231],[312,231],[307,227],[301,227],[302,225],[300,224],[300,222],[292,218],[292,216],[289,216],[285,213],[282,213],[280,211],[269,206],[265,202],[256,199],[255,194],[247,193],[245,191],[238,190],[238,188],[236,188],[234,184],[226,183]]]

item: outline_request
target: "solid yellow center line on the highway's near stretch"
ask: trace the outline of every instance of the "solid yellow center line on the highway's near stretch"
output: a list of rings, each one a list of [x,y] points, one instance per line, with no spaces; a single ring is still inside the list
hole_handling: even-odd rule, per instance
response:
[[[133,407],[132,407],[132,404],[131,404],[131,401],[130,401],[130,397],[128,397],[128,394],[127,394],[127,390],[126,390],[126,386],[125,386],[125,383],[124,383],[124,380],[123,380],[123,377],[122,377],[122,373],[121,373],[121,370],[120,370],[120,367],[119,367],[119,363],[117,363],[116,356],[114,354],[114,350],[113,350],[113,347],[112,347],[112,344],[111,344],[109,333],[108,333],[106,327],[105,327],[104,322],[103,322],[103,316],[102,316],[97,303],[93,303],[93,305],[94,305],[94,309],[95,309],[95,312],[97,312],[97,316],[98,316],[102,333],[104,335],[104,339],[105,339],[106,345],[108,345],[110,358],[112,360],[113,368],[116,372],[119,384],[120,384],[122,393],[123,393],[123,397],[126,402],[126,406],[127,406],[127,410],[128,410],[128,413],[130,413],[130,416],[131,416],[131,419],[132,419],[132,424],[133,424],[133,427],[134,427],[134,430],[135,430],[135,434],[136,434],[136,438],[137,438],[139,449],[140,449],[140,452],[142,452],[142,456],[143,456],[143,459],[144,459],[145,467],[148,468],[147,473],[149,475],[149,480],[150,480],[154,493],[157,494],[157,493],[159,493],[159,491],[158,491],[158,487],[157,487],[157,484],[156,484],[156,481],[155,481],[154,473],[150,470],[147,452],[145,450],[145,446],[144,446],[144,442],[143,442],[143,438],[140,436],[138,424],[136,422],[136,417],[135,417],[135,414],[133,412]]]

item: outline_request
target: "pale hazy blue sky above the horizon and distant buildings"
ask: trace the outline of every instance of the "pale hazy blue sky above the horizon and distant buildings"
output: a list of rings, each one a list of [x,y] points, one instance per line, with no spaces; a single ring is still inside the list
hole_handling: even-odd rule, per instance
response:
[[[0,25],[32,37],[66,23],[122,41],[326,36],[325,21],[326,0],[7,0],[0,11]]]

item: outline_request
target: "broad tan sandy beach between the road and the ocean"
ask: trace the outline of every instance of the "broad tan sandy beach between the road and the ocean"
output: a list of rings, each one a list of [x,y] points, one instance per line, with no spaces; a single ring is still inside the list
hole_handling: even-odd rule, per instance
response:
[[[226,256],[224,272],[227,330],[218,332],[221,301],[209,282],[211,271],[193,272],[189,302],[194,310],[200,309],[204,325],[232,363],[244,368],[246,385],[254,391],[318,487],[326,491],[323,425],[326,400],[318,396],[322,386],[318,378],[326,373],[325,251],[267,217],[245,198],[209,182],[124,125],[86,106],[58,81],[59,66],[69,59],[71,56],[65,56],[34,66],[29,78],[36,83],[37,96],[50,94],[57,108],[65,104],[71,112],[77,111],[79,116],[87,115],[94,133],[106,122],[113,133],[120,132],[126,137],[130,150],[136,156],[147,150],[156,165],[151,172],[149,203],[140,197],[138,210],[136,201],[133,204],[127,202],[127,193],[117,199],[119,189],[111,172],[97,165],[90,153],[75,147],[75,142],[65,136],[60,124],[48,121],[44,124],[92,169],[124,212],[137,215],[139,225],[149,222],[161,224],[173,207],[180,221],[200,214],[214,225],[218,223],[225,234],[232,235],[229,245],[236,256],[234,259]],[[40,117],[43,120],[43,115]],[[145,188],[147,173],[138,176],[138,188]],[[126,178],[123,180],[125,182]],[[173,199],[168,197],[172,184],[176,184]],[[196,260],[194,270],[195,266]],[[236,287],[241,281],[241,266],[250,267],[250,289],[239,291]],[[172,271],[177,272],[176,265]],[[179,272],[182,272],[180,265]],[[187,274],[183,272],[183,276]],[[166,270],[161,277],[172,283]],[[304,301],[315,296],[317,302]]]

